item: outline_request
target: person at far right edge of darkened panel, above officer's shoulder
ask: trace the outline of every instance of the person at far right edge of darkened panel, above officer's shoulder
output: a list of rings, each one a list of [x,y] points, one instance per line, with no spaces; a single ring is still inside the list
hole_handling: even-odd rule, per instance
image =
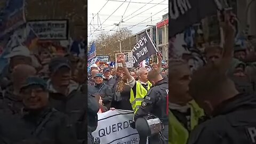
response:
[[[228,76],[235,83],[238,92],[252,94],[254,93],[253,84],[249,76],[246,75],[245,68],[244,62],[233,59],[228,70]]]

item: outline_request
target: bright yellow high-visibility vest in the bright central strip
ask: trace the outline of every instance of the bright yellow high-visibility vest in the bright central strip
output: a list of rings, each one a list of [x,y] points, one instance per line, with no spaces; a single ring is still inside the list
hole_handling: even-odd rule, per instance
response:
[[[135,84],[136,85],[136,98],[134,98],[134,92],[131,89],[130,102],[131,102],[134,114],[141,106],[141,102],[143,101],[144,97],[147,95],[148,90],[152,86],[152,84],[149,81],[147,83],[148,83],[148,87],[147,87],[148,89],[146,90],[140,82],[136,81],[136,84]]]

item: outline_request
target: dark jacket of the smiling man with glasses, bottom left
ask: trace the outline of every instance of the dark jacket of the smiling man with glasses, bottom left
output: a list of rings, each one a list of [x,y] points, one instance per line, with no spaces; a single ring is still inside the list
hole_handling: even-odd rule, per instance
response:
[[[25,115],[2,115],[0,135],[1,144],[26,143],[25,141],[77,143],[74,125],[66,115],[52,108]]]

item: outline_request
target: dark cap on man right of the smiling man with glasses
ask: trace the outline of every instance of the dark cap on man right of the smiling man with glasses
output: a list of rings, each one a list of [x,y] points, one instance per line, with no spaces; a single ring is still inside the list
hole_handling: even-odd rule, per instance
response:
[[[55,73],[61,67],[67,67],[70,69],[70,61],[66,57],[53,58],[49,63],[50,73]]]

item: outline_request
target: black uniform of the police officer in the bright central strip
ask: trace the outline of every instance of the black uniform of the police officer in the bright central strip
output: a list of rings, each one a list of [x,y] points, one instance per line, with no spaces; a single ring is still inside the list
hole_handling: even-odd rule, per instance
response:
[[[141,103],[140,108],[134,115],[134,121],[139,117],[146,116],[147,114],[153,114],[157,116],[164,125],[164,130],[162,131],[162,137],[155,135],[149,138],[150,143],[167,143],[168,142],[168,108],[167,108],[167,95],[168,95],[168,79],[163,78],[161,81],[156,83],[152,87],[144,100]],[[140,138],[141,139],[141,138]],[[160,142],[161,141],[161,142]]]

